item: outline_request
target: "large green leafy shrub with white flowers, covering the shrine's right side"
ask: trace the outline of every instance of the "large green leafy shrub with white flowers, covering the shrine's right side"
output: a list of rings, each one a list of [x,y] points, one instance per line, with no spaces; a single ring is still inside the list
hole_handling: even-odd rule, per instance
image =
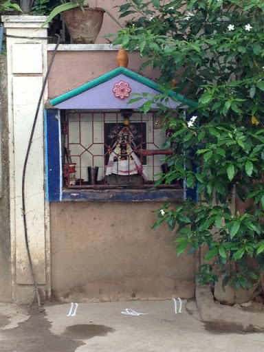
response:
[[[157,226],[175,231],[177,254],[207,246],[201,284],[250,287],[264,268],[264,3],[263,0],[130,0],[114,44],[140,51],[159,83],[198,102],[173,118],[162,102],[175,153],[161,181],[186,181],[197,201],[157,210]],[[173,84],[171,84],[173,83]],[[151,107],[144,100],[143,111]],[[240,208],[232,210],[232,193]],[[248,208],[245,206],[247,202]],[[245,208],[243,210],[242,208]],[[250,263],[253,259],[253,265]]]

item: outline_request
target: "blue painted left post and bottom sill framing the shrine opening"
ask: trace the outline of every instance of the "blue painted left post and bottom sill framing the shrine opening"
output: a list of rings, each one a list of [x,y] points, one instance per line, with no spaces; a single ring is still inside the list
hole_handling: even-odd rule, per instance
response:
[[[45,110],[45,169],[47,201],[184,201],[184,190],[175,189],[63,189],[61,111]]]

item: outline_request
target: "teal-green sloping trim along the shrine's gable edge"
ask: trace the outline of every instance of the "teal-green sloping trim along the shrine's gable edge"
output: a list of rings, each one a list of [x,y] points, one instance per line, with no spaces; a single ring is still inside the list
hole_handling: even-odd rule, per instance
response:
[[[130,69],[126,69],[124,67],[118,67],[117,69],[113,69],[113,71],[108,72],[107,74],[104,74],[94,80],[91,80],[89,83],[85,83],[85,85],[81,85],[80,87],[73,89],[72,91],[68,91],[67,93],[58,96],[57,98],[54,98],[50,100],[50,104],[54,107],[56,104],[59,104],[61,102],[64,102],[65,100],[68,100],[70,98],[73,98],[74,96],[78,96],[78,94],[83,93],[84,91],[87,91],[91,88],[96,87],[97,85],[101,85],[104,82],[107,82],[107,80],[111,80],[111,78],[114,78],[118,76],[119,74],[124,74],[125,76],[128,76],[134,80],[137,80],[137,82],[142,83],[143,85],[146,85],[147,87],[150,87],[152,89],[155,89],[156,91],[159,91],[160,93],[163,92],[162,87],[158,84],[153,82],[153,80],[150,80],[146,77],[140,76],[140,74],[136,74],[135,72],[131,71]],[[183,102],[190,107],[197,107],[198,104],[197,102],[193,102],[192,100],[185,98],[181,94],[175,93],[175,91],[169,91],[169,96],[176,98],[179,100],[179,102]]]

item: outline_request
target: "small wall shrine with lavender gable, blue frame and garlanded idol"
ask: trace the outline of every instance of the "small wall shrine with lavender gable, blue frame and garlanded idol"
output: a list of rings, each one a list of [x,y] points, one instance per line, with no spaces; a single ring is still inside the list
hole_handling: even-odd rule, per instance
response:
[[[173,131],[162,130],[157,104],[148,113],[138,108],[148,96],[160,93],[157,83],[118,67],[50,100],[53,109],[46,110],[45,120],[47,199],[109,200],[109,192],[100,190],[111,190],[111,200],[132,200],[138,195],[144,200],[151,194],[155,200],[161,192],[168,199],[176,199],[177,194],[183,199],[186,190],[179,182],[154,188],[159,177],[155,175],[168,171],[163,157],[175,153],[173,146],[162,149]],[[133,101],[140,94],[146,99]],[[193,104],[171,91],[164,104],[175,109],[182,103]],[[127,192],[117,195],[117,188],[130,190],[130,199]]]

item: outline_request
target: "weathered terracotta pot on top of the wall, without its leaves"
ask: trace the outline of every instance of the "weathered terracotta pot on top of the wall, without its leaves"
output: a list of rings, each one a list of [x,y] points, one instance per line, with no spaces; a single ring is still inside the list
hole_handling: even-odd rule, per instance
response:
[[[74,8],[63,12],[63,19],[74,44],[93,44],[102,27],[102,8]]]

